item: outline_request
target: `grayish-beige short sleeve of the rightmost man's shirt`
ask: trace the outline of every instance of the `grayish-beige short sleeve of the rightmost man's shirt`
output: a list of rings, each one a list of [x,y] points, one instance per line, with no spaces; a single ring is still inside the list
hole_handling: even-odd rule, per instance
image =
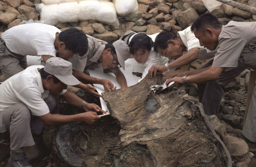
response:
[[[230,35],[219,37],[212,67],[237,67],[244,45],[246,45],[246,40],[240,37]]]

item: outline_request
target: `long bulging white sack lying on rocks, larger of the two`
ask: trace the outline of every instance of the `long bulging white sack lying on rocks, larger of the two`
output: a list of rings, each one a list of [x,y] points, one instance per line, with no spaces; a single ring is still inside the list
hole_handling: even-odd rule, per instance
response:
[[[58,22],[78,22],[78,20],[96,20],[109,25],[118,25],[116,10],[112,2],[83,0],[60,4],[39,4],[40,20],[45,24],[56,25]]]

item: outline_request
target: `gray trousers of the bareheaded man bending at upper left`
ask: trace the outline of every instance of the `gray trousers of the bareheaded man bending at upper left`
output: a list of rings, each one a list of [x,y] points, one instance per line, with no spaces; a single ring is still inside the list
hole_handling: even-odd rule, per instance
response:
[[[26,67],[26,56],[14,55],[2,42],[0,43],[0,71],[6,79],[23,71]]]

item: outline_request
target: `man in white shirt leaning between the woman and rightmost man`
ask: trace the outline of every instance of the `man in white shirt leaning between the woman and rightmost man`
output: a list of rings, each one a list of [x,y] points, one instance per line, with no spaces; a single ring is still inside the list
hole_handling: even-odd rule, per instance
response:
[[[181,68],[175,72],[163,73],[164,81],[177,76],[181,71],[189,70],[190,63],[200,59],[210,59],[214,57],[215,51],[207,51],[200,46],[198,39],[191,32],[189,26],[183,31],[178,31],[177,36],[166,31],[159,33],[154,42],[154,50],[164,57],[174,59],[165,65],[153,65],[148,71],[148,77],[156,76],[156,72],[170,71],[170,69]]]

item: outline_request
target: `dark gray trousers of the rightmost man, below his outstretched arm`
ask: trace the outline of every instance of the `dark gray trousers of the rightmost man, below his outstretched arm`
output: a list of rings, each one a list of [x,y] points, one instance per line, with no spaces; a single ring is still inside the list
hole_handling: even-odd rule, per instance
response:
[[[207,62],[202,67],[198,69],[206,68],[212,65],[212,61]],[[228,85],[234,78],[236,78],[240,73],[242,73],[247,66],[242,63],[240,58],[238,62],[238,67],[226,68],[226,71],[220,74],[219,79],[210,81],[208,83],[198,83],[198,96],[200,102],[204,106],[204,112],[208,115],[216,115],[220,109],[221,99],[223,96],[223,88]]]

